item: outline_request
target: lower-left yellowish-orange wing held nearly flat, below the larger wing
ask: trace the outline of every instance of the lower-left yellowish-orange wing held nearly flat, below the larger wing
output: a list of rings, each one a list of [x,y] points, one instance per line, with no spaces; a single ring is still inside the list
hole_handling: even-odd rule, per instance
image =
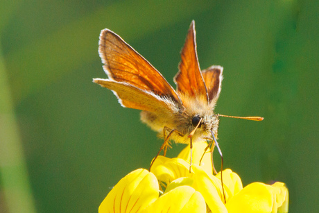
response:
[[[163,99],[153,92],[141,90],[138,87],[125,82],[117,82],[110,79],[94,78],[94,83],[112,90],[123,107],[137,110],[146,110],[163,114],[173,112],[175,102],[171,99]]]

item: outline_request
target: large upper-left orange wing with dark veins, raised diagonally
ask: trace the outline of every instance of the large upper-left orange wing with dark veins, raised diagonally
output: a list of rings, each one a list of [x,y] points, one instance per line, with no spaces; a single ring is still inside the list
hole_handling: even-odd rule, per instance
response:
[[[108,29],[101,31],[98,52],[104,64],[103,69],[110,79],[166,96],[182,104],[178,94],[162,74],[119,35]],[[126,91],[128,88],[126,87]]]

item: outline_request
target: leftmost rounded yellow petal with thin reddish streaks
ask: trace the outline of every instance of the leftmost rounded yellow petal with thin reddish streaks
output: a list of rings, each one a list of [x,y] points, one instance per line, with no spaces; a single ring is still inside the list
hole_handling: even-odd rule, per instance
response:
[[[146,169],[128,173],[107,194],[98,212],[137,212],[158,198],[156,177]]]

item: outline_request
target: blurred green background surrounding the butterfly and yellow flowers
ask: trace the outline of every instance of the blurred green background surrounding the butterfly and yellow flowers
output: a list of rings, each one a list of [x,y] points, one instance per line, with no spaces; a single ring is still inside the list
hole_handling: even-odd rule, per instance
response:
[[[316,0],[1,1],[0,212],[97,212],[148,168],[162,140],[92,83],[107,78],[98,35],[110,28],[174,85],[192,19],[201,68],[224,67],[216,112],[265,118],[221,118],[225,167],[244,185],[286,182],[290,212],[318,212]]]

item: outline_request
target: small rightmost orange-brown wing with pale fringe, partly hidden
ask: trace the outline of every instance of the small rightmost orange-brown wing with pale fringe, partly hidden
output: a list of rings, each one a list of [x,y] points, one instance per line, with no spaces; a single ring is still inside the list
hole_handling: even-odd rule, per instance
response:
[[[204,78],[207,87],[207,94],[210,102],[216,102],[221,93],[221,81],[223,80],[223,67],[211,66],[202,70],[202,78]]]

